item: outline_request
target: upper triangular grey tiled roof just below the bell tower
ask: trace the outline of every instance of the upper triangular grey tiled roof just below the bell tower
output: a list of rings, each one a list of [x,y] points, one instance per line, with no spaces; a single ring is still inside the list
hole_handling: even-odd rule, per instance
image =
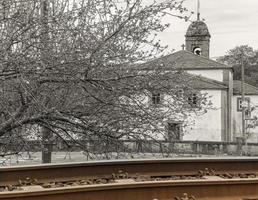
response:
[[[209,58],[196,55],[192,52],[181,50],[173,54],[154,59],[136,66],[138,69],[233,69],[230,66],[216,62]]]

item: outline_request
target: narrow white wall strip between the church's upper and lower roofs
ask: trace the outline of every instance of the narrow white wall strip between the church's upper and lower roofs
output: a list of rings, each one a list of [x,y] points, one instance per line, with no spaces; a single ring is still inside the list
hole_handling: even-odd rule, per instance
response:
[[[223,70],[211,69],[211,70],[186,70],[189,74],[201,75],[206,78],[214,79],[216,81],[223,82]]]

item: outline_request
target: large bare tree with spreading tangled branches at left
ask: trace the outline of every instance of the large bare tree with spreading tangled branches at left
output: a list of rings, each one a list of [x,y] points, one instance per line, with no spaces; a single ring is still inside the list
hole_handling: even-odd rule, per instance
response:
[[[162,17],[186,12],[182,3],[1,0],[0,136],[26,141],[43,127],[75,143],[155,139],[164,119],[206,109],[205,95],[197,111],[189,106],[193,77],[163,70],[173,63],[143,67],[165,49]],[[148,103],[156,91],[167,96],[158,108]]]

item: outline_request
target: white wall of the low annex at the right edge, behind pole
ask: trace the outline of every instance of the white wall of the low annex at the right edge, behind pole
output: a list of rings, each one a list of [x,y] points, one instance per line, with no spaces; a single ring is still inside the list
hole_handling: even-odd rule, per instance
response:
[[[245,97],[250,98],[250,105],[251,106],[258,106],[258,95],[245,95]],[[233,112],[233,133],[235,137],[241,137],[242,136],[242,112],[237,111],[237,98],[241,98],[240,95],[233,96],[233,102],[232,102],[232,112]],[[258,117],[258,108],[255,108],[254,111],[251,113],[251,119],[254,119],[255,117]],[[247,120],[246,123],[252,123],[254,121]],[[249,133],[247,135],[248,142],[254,142],[258,143],[258,126],[252,129],[248,129],[247,132]]]

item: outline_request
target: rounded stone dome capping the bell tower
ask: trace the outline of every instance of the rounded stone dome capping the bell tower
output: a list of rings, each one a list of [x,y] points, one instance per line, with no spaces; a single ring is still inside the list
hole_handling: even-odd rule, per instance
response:
[[[211,35],[207,25],[203,21],[197,20],[190,24],[185,36],[186,37],[196,37],[196,36],[210,37]]]

